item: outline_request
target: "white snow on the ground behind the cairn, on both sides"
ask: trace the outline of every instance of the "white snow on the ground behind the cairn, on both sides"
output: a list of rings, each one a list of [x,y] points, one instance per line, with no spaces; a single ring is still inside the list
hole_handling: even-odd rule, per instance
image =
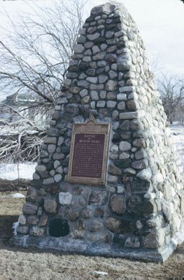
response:
[[[181,158],[180,169],[184,172],[184,126],[183,125],[171,125],[171,140],[174,144],[174,148],[178,152],[179,157]],[[25,162],[16,164],[0,164],[0,178],[7,180],[20,179],[32,179],[32,174],[36,163]]]

